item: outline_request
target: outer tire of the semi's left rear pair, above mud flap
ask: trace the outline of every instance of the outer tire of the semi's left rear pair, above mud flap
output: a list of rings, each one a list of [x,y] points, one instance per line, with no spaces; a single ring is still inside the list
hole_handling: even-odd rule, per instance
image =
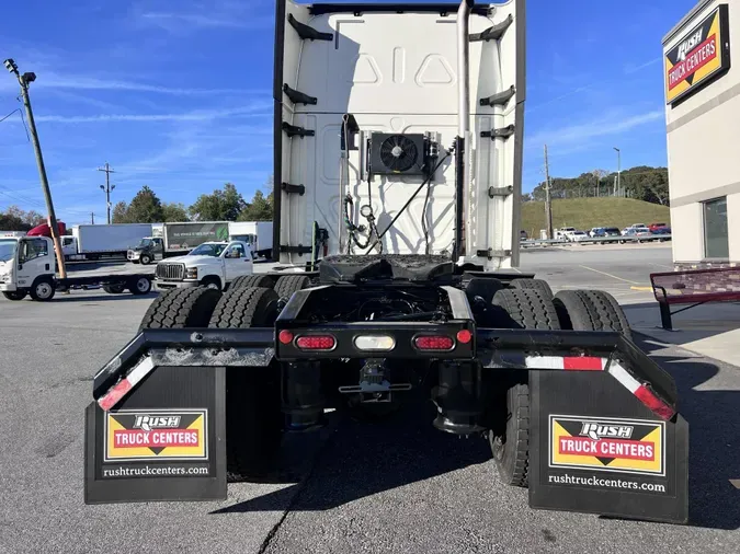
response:
[[[171,289],[151,302],[139,330],[207,327],[221,293],[206,288]]]

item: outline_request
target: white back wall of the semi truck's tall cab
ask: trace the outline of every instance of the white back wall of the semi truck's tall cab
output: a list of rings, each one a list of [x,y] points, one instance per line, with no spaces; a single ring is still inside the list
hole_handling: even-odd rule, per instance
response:
[[[462,73],[457,5],[278,4],[280,262],[303,264],[320,240],[330,254],[515,264],[524,2],[470,10]]]

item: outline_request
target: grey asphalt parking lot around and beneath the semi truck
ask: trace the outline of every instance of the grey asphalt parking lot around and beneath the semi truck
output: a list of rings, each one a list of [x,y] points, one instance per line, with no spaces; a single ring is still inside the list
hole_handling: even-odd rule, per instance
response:
[[[605,288],[631,302],[629,281],[670,264],[669,249],[646,246],[526,253],[520,269],[556,289]],[[0,552],[740,551],[740,489],[730,482],[740,478],[740,370],[644,337],[676,379],[691,425],[686,527],[531,510],[525,490],[498,482],[487,443],[434,430],[429,405],[291,436],[270,482],[229,485],[223,503],[86,506],[90,381],[152,298],[0,299]]]

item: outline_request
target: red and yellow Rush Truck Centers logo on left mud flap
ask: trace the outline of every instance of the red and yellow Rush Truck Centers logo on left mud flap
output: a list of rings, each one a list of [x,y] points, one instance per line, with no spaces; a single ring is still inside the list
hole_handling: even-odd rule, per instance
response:
[[[206,409],[121,409],[105,414],[105,461],[206,460]]]

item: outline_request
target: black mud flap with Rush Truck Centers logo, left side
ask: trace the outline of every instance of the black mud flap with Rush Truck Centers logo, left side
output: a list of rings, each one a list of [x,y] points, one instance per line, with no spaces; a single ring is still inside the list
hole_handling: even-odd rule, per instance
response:
[[[226,498],[225,369],[156,367],[86,411],[84,501]]]

